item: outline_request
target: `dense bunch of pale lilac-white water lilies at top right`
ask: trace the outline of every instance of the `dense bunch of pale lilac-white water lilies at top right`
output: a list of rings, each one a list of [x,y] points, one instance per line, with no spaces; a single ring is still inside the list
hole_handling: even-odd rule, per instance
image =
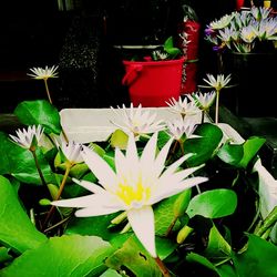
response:
[[[214,50],[229,49],[253,52],[258,42],[277,40],[277,18],[271,9],[253,7],[249,11],[234,11],[212,21],[205,29],[205,39]]]

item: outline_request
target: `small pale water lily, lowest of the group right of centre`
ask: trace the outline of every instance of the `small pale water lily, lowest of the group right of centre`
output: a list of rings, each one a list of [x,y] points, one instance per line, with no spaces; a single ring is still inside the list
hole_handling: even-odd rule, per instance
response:
[[[199,137],[198,135],[194,135],[194,131],[196,129],[196,122],[193,120],[177,119],[173,122],[167,122],[167,132],[172,135],[176,141],[179,141],[183,135],[186,138]]]

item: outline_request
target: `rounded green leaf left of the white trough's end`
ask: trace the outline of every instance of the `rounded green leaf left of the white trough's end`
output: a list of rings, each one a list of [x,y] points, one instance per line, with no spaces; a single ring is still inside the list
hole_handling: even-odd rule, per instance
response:
[[[47,100],[23,101],[14,114],[25,125],[41,124],[47,133],[60,134],[62,131],[59,111]]]

